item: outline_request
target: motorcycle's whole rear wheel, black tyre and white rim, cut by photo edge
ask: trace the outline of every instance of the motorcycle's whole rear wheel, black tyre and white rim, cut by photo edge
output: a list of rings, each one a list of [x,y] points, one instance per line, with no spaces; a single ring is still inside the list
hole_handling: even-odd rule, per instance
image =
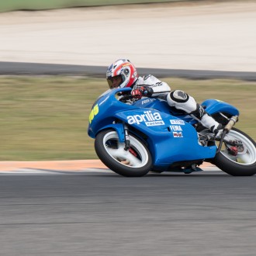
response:
[[[214,164],[222,171],[233,176],[256,174],[256,144],[246,133],[233,128],[225,137],[226,141],[214,158]],[[237,143],[234,150],[232,142]],[[233,143],[234,144],[234,143]]]

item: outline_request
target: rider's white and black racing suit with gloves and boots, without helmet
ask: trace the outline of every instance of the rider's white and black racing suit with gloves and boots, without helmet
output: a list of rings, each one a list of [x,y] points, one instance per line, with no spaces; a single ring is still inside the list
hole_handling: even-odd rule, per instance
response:
[[[188,113],[213,133],[218,133],[223,128],[212,116],[209,116],[199,103],[195,102],[191,95],[181,90],[171,91],[166,82],[160,81],[151,74],[137,78],[132,88],[131,95],[135,99],[140,99],[143,96],[164,99],[169,106]]]

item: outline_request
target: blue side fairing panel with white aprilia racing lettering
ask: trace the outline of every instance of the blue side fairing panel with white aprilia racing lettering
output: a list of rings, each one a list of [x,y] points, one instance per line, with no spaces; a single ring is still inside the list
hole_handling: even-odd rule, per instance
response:
[[[148,147],[157,165],[212,158],[216,154],[216,146],[202,147],[195,128],[178,117],[141,108],[136,112],[118,112],[115,116],[147,136]]]

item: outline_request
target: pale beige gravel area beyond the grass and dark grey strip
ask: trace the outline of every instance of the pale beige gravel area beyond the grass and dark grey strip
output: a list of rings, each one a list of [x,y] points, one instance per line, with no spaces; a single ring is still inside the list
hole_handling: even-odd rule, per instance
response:
[[[0,60],[255,71],[256,2],[199,1],[0,13]]]

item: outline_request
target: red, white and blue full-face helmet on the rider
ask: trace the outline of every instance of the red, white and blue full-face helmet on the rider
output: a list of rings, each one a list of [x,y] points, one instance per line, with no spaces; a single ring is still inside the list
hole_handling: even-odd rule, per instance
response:
[[[138,78],[136,67],[126,59],[117,60],[109,66],[106,72],[109,88],[113,88],[112,78],[116,76],[121,76],[122,78],[118,88],[130,87]]]

